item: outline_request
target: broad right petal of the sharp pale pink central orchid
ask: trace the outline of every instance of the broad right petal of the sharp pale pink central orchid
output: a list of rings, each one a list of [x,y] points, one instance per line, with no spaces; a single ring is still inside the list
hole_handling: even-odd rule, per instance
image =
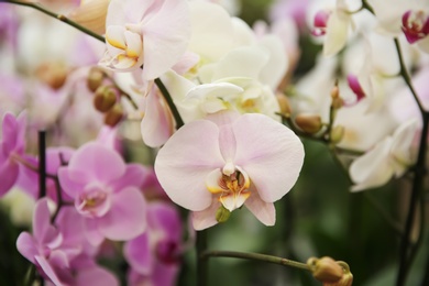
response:
[[[263,114],[241,116],[232,125],[237,141],[234,163],[248,173],[266,202],[286,195],[298,179],[304,146],[285,125]]]

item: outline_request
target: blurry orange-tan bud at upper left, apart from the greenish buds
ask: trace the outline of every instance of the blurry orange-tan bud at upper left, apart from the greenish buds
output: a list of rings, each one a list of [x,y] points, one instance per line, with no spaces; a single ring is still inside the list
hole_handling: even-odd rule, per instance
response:
[[[67,79],[67,67],[62,63],[42,64],[35,70],[36,77],[53,89],[61,88]]]

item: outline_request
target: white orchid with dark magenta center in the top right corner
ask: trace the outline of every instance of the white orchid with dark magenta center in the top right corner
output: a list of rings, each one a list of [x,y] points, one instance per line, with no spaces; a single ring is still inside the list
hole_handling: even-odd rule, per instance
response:
[[[378,20],[377,31],[397,36],[404,33],[408,43],[429,53],[429,4],[426,1],[394,0],[388,9],[381,0],[369,1]]]

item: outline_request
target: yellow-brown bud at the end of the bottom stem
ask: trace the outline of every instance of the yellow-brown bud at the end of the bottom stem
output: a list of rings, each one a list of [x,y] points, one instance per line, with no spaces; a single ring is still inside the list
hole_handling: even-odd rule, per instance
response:
[[[334,260],[328,256],[321,258],[310,257],[307,261],[307,265],[310,266],[312,276],[316,279],[322,282],[323,285],[324,283],[337,283],[341,280],[344,274],[342,266],[340,266]]]

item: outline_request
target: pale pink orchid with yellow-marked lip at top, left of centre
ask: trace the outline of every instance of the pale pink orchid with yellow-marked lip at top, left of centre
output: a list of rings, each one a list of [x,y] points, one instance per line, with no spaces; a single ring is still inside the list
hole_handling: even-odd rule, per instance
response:
[[[186,52],[190,16],[185,0],[112,0],[106,19],[107,52],[100,64],[116,70],[143,68],[160,77]]]

